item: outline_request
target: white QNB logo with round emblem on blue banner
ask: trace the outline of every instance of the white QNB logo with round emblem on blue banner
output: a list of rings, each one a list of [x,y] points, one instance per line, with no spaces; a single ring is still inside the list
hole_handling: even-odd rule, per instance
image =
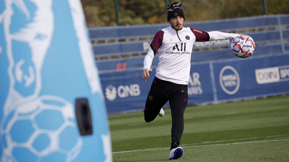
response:
[[[108,85],[105,88],[105,97],[113,101],[116,97],[126,98],[129,96],[139,96],[140,95],[140,86],[138,84],[131,85],[120,85],[118,88],[113,85]]]

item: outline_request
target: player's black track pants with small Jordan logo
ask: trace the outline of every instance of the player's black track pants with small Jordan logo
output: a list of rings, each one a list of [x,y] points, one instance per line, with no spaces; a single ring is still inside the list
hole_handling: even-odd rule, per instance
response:
[[[153,121],[160,109],[169,101],[172,113],[172,147],[179,146],[184,131],[184,111],[188,103],[188,86],[155,77],[147,96],[144,120]],[[177,146],[175,146],[175,143]],[[174,146],[173,146],[174,144]]]

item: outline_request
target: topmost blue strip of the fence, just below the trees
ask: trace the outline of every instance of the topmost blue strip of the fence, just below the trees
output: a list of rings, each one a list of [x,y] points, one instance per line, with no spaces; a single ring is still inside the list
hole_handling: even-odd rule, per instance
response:
[[[186,27],[204,31],[236,31],[236,29],[270,28],[278,25],[288,25],[288,15],[268,15],[247,18],[185,22]],[[138,37],[153,37],[156,32],[168,24],[113,26],[89,28],[89,36],[93,41],[106,39],[128,39]]]

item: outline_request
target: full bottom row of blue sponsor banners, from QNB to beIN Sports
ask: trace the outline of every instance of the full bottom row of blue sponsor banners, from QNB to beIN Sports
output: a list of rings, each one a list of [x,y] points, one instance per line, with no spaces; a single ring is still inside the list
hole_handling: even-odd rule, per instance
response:
[[[288,60],[289,54],[282,54],[193,63],[188,84],[188,104],[210,104],[287,94]],[[143,109],[155,76],[154,71],[147,82],[141,77],[142,70],[100,74],[108,113]]]

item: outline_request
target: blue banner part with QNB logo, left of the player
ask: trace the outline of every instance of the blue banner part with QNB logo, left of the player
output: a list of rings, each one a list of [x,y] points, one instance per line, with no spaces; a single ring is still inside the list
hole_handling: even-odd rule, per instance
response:
[[[100,74],[108,113],[144,108],[155,72],[144,82],[142,70]]]

